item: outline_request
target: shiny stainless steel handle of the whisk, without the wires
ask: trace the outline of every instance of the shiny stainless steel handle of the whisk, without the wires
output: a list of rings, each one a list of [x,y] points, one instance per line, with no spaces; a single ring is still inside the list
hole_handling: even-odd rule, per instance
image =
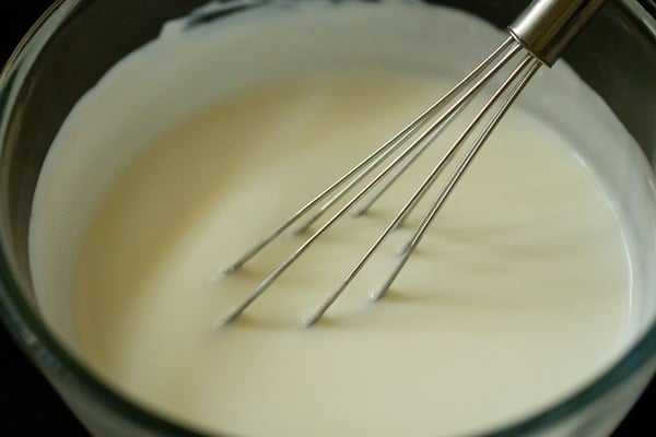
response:
[[[508,26],[517,42],[552,66],[606,0],[534,0]]]

